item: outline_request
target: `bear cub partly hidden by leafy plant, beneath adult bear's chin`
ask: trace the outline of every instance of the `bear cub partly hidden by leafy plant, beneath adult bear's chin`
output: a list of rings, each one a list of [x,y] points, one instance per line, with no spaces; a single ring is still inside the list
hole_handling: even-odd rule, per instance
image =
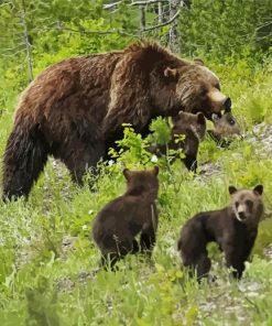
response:
[[[154,145],[148,148],[148,150],[157,155],[165,155],[167,148],[170,150],[182,149],[185,154],[185,157],[182,159],[183,163],[189,171],[196,173],[198,145],[205,137],[206,119],[202,112],[193,115],[179,111],[177,116],[172,118],[172,123],[171,140],[167,145]],[[181,134],[184,134],[185,139],[176,141],[176,137]]]

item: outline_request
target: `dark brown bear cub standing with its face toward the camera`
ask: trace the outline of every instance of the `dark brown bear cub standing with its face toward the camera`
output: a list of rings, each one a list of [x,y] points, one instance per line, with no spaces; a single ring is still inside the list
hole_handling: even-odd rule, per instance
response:
[[[258,232],[258,225],[263,214],[261,195],[263,186],[253,191],[229,187],[230,205],[220,210],[195,215],[182,229],[177,243],[183,264],[191,268],[191,275],[207,275],[211,262],[206,246],[215,241],[225,252],[228,268],[233,268],[235,278],[240,279],[244,261],[249,258]]]

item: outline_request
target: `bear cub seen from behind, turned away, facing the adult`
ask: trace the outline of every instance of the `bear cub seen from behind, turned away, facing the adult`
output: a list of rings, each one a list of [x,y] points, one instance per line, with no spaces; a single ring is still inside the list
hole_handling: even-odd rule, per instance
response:
[[[115,263],[127,253],[151,251],[155,244],[159,167],[149,171],[123,170],[127,192],[110,202],[96,217],[94,239],[101,251],[101,264]],[[135,236],[140,235],[140,247]]]

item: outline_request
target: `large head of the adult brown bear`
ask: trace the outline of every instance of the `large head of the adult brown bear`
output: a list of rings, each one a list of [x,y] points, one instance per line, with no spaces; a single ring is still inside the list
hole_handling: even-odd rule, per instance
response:
[[[182,110],[203,112],[209,120],[213,113],[221,117],[222,110],[230,111],[230,98],[220,91],[218,77],[200,59],[178,68],[166,67],[164,76],[175,82],[173,101]]]

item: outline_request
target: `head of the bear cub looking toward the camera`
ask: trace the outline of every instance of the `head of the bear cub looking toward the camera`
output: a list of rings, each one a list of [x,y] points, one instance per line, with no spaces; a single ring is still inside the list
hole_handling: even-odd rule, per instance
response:
[[[262,192],[262,185],[255,186],[252,191],[229,187],[230,206],[240,222],[252,227],[259,224],[263,214]]]

